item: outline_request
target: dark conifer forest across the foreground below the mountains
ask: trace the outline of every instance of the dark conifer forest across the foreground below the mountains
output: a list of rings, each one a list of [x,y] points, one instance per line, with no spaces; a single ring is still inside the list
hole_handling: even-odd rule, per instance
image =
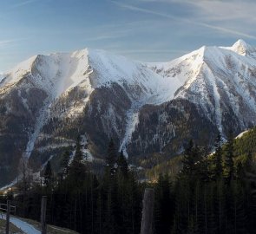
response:
[[[83,160],[80,139],[69,165],[69,152],[53,177],[50,162],[41,185],[20,181],[9,198],[17,215],[40,220],[42,196],[47,196],[47,223],[79,233],[140,233],[143,192],[154,188],[154,233],[255,233],[256,129],[245,137],[229,134],[222,144],[216,136],[214,153],[189,140],[180,156],[181,171],[175,179],[159,174],[157,181],[142,181],[110,140],[102,174],[95,174]]]

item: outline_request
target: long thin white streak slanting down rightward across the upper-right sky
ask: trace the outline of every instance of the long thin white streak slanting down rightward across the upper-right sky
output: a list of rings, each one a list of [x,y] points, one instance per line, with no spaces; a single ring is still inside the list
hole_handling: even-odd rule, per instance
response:
[[[197,25],[197,26],[201,26],[201,27],[208,28],[208,29],[213,29],[213,30],[225,33],[225,34],[229,34],[229,35],[232,34],[234,36],[242,36],[242,37],[246,37],[246,38],[250,38],[250,39],[256,39],[256,36],[254,36],[253,34],[245,33],[245,32],[242,32],[240,30],[237,30],[237,29],[230,29],[230,28],[226,28],[226,27],[221,27],[219,25],[214,25],[213,23],[202,23],[201,21],[199,22],[199,21],[196,21],[192,18],[172,16],[172,15],[162,13],[162,12],[159,12],[159,11],[156,11],[156,10],[148,10],[148,9],[141,8],[141,7],[138,7],[138,6],[135,6],[135,5],[125,4],[125,3],[118,3],[118,2],[115,2],[115,1],[111,1],[111,2],[115,3],[116,5],[121,7],[122,9],[139,11],[139,12],[143,12],[143,13],[146,13],[146,14],[151,14],[151,15],[154,15],[154,16],[161,16],[161,17],[165,17],[165,18],[168,18],[168,19],[172,19],[172,20],[175,20],[177,22],[183,22],[183,23],[187,23],[187,24],[194,24],[194,25]],[[174,3],[174,2],[177,2],[177,1],[174,1],[174,0],[167,1],[167,0],[165,0],[164,2]],[[185,1],[185,2],[194,3],[192,1]],[[199,0],[198,5],[200,6],[200,3],[201,4],[206,4],[206,2],[220,3],[220,1],[202,1],[202,0]],[[212,10],[210,7],[206,8],[206,9]],[[216,11],[218,11],[218,10],[216,10]],[[215,12],[215,10],[214,10],[214,12]],[[227,12],[226,12],[226,14],[227,14]],[[223,14],[223,15],[226,15],[226,14]]]

